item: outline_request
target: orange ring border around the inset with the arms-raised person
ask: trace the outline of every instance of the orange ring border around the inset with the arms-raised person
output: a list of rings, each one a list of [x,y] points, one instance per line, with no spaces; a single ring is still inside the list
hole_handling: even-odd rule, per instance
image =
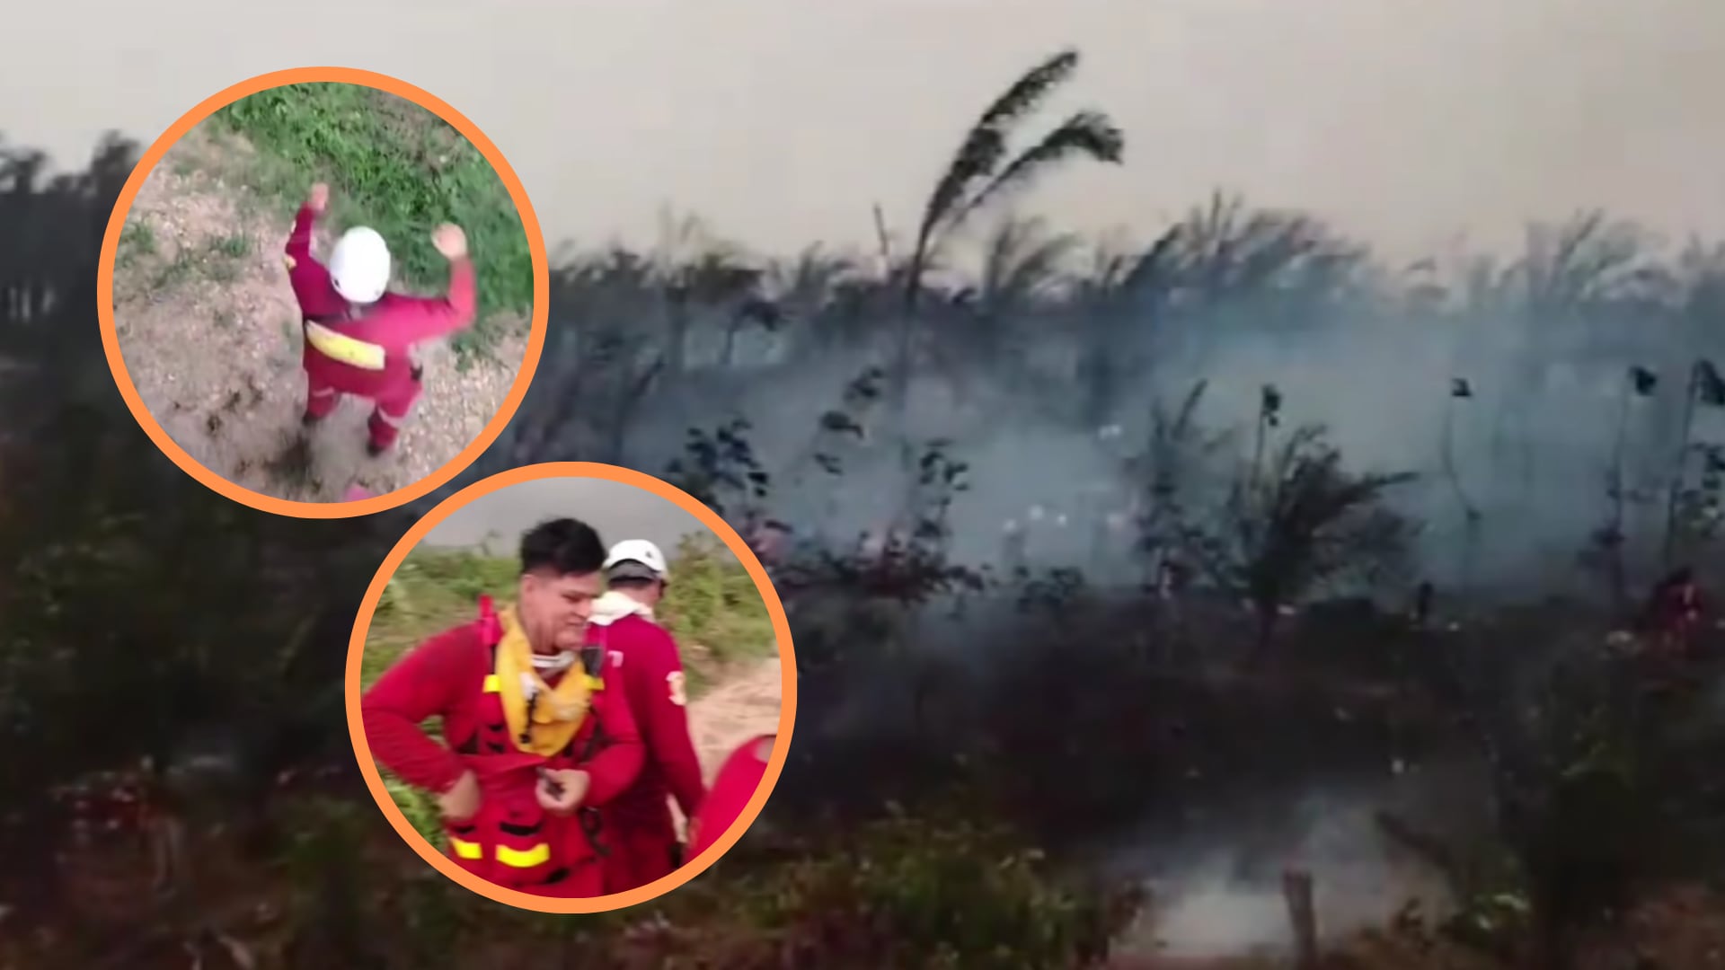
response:
[[[509,190],[509,198],[516,204],[516,211],[521,214],[521,228],[526,231],[528,252],[533,257],[531,330],[528,333],[526,350],[521,356],[521,369],[516,373],[516,381],[511,385],[502,407],[499,407],[497,414],[492,416],[492,421],[480,431],[480,437],[469,442],[467,447],[461,449],[461,454],[443,463],[443,466],[431,475],[426,475],[424,478],[393,492],[352,502],[297,502],[264,495],[228,482],[193,459],[185,449],[167,437],[167,431],[162,430],[160,423],[157,423],[155,416],[150,414],[150,411],[143,406],[143,400],[138,397],[138,388],[131,383],[131,375],[126,371],[126,361],[119,350],[119,331],[114,326],[114,255],[119,249],[119,236],[126,228],[126,216],[131,214],[131,205],[138,198],[138,190],[143,188],[145,180],[155,166],[160,164],[162,155],[166,155],[176,142],[185,138],[204,119],[240,98],[267,91],[269,88],[279,88],[283,85],[312,83],[362,85],[367,88],[378,88],[414,102],[416,105],[442,117],[455,131],[461,131],[462,136],[466,136],[467,142],[480,150],[485,161],[490,162],[492,169],[497,171],[497,178],[502,180],[504,188]],[[416,88],[407,81],[390,78],[388,74],[361,71],[355,67],[293,67],[288,71],[259,74],[257,78],[240,81],[231,88],[204,98],[204,102],[200,102],[195,109],[179,116],[179,121],[171,124],[167,131],[164,131],[162,136],[150,145],[143,157],[138,159],[138,166],[133,167],[131,176],[126,180],[126,186],[121,188],[119,200],[114,204],[114,212],[109,216],[107,233],[102,236],[102,259],[97,264],[97,314],[102,321],[102,349],[107,352],[109,369],[114,373],[114,383],[119,385],[121,397],[126,399],[126,407],[131,409],[133,418],[136,418],[138,425],[143,426],[143,431],[150,435],[155,447],[162,449],[162,454],[172,459],[172,463],[178,464],[186,475],[197,478],[204,485],[221,495],[226,495],[228,499],[233,499],[235,502],[266,513],[276,513],[279,516],[312,520],[364,516],[393,509],[430,494],[473,464],[474,459],[478,459],[480,454],[483,454],[485,449],[488,449],[492,442],[504,433],[504,426],[509,425],[516,409],[521,407],[521,399],[526,397],[528,385],[533,383],[533,371],[538,369],[540,352],[545,345],[545,323],[550,316],[549,299],[550,273],[545,257],[545,236],[540,231],[538,216],[533,214],[533,202],[528,200],[526,188],[521,186],[521,178],[516,176],[512,167],[509,167],[509,161],[504,159],[504,154],[497,148],[497,145],[492,143],[492,140],[486,138],[485,133],[467,119],[467,116],[461,114],[442,98]]]

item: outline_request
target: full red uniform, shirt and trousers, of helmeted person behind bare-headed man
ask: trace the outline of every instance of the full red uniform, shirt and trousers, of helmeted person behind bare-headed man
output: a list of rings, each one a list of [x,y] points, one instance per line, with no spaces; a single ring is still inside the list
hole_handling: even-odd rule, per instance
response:
[[[671,633],[630,614],[602,627],[607,670],[623,685],[647,751],[642,773],[605,806],[605,830],[618,851],[605,860],[605,891],[623,892],[669,875],[680,865],[668,796],[693,818],[706,796],[700,758],[688,737],[683,661]]]

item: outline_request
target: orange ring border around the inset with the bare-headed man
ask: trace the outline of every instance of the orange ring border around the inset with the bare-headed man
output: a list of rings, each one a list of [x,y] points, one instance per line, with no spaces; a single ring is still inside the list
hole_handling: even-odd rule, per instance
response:
[[[768,614],[773,620],[773,633],[778,639],[778,659],[780,659],[780,708],[778,708],[778,737],[773,740],[773,756],[768,761],[766,773],[761,777],[761,784],[756,787],[754,796],[749,797],[749,804],[743,806],[742,815],[731,822],[731,827],[719,835],[706,851],[702,851],[693,860],[688,860],[680,868],[671,872],[662,879],[649,882],[647,885],[638,885],[624,892],[612,892],[609,896],[590,896],[581,899],[562,899],[535,896],[531,892],[519,892],[516,889],[505,889],[480,879],[454,861],[448,856],[436,851],[421,835],[407,816],[402,815],[400,806],[390,797],[390,790],[383,787],[383,777],[378,773],[378,763],[371,756],[371,744],[366,740],[364,720],[359,713],[361,699],[361,666],[366,652],[366,637],[371,633],[371,618],[378,609],[378,601],[383,597],[383,587],[390,583],[395,570],[400,568],[402,561],[419,540],[426,537],[438,523],[447,520],[457,509],[467,506],[481,495],[490,495],[500,488],[511,485],[521,485],[524,482],[538,482],[542,478],[604,478],[607,482],[618,482],[621,485],[633,485],[645,492],[652,492],[661,499],[673,502],[680,509],[700,520],[702,525],[712,530],[724,545],[737,556],[737,561],[749,570],[749,576],[754,578],[756,589],[761,592],[762,602],[766,602]],[[742,839],[743,832],[754,825],[754,820],[761,815],[761,808],[766,806],[766,799],[773,794],[773,787],[778,784],[778,775],[785,766],[785,756],[790,751],[790,734],[797,725],[797,651],[790,640],[790,621],[785,616],[785,604],[778,599],[778,590],[773,589],[773,580],[766,575],[766,568],[761,559],[756,557],[743,537],[737,533],[723,518],[712,509],[704,506],[699,499],[683,492],[681,488],[661,482],[652,475],[633,471],[630,468],[619,468],[614,464],[599,464],[588,461],[555,461],[545,464],[528,464],[523,468],[511,468],[490,478],[474,482],[461,492],[455,492],[448,499],[438,502],[426,518],[414,523],[412,528],[402,535],[395,549],[383,559],[378,566],[378,575],[373,576],[371,587],[366,590],[366,599],[359,604],[359,616],[354,621],[354,635],[347,647],[347,732],[354,740],[354,754],[359,759],[359,772],[366,777],[366,787],[371,789],[371,797],[376,799],[378,808],[383,809],[385,818],[390,825],[402,835],[402,839],[412,846],[419,858],[430,863],[433,868],[447,875],[448,879],[459,882],[461,885],[485,896],[486,899],[504,903],[509,906],[518,906],[521,910],[533,910],[538,913],[607,913],[611,910],[621,910],[624,906],[635,906],[638,903],[647,903],[656,899],[690,879],[695,879],[707,870],[712,863],[719,860],[724,853],[731,851],[731,846]]]

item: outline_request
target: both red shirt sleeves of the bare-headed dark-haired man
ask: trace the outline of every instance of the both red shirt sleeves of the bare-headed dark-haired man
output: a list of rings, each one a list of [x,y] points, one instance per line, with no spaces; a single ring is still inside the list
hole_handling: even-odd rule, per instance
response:
[[[433,740],[421,725],[442,718],[443,737],[459,746],[481,728],[480,699],[485,677],[492,673],[492,651],[485,639],[485,621],[466,623],[431,637],[378,678],[361,697],[366,742],[380,765],[388,766],[409,785],[431,792],[448,790],[466,772],[461,754]],[[642,766],[642,739],[626,702],[616,702],[624,687],[611,670],[600,675],[605,689],[593,699],[593,715],[574,739],[580,751],[595,725],[611,744],[602,746],[588,763],[561,763],[555,768],[583,768],[590,777],[583,804],[612,801]],[[552,680],[554,683],[554,680]],[[611,697],[605,697],[605,696]]]

